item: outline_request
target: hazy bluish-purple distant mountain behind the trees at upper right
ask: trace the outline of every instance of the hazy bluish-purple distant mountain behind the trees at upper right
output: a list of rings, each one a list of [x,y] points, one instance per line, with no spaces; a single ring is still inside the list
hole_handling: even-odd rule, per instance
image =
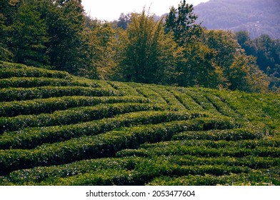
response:
[[[210,0],[194,7],[207,29],[249,31],[251,38],[268,34],[280,39],[279,0]]]

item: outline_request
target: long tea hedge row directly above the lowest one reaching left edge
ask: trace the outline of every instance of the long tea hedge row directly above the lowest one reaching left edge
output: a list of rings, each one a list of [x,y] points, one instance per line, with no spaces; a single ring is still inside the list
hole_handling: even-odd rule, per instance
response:
[[[71,124],[65,126],[48,126],[41,128],[29,128],[15,132],[5,132],[1,135],[0,149],[21,148],[31,149],[44,143],[65,141],[79,136],[89,136],[105,133],[121,126],[136,126],[139,124],[158,124],[166,121],[194,119],[206,116],[205,114],[188,114],[171,111],[141,111],[121,114],[114,118],[101,119]],[[204,126],[204,121],[199,122]],[[228,124],[227,122],[221,122]],[[201,127],[200,129],[203,129]]]

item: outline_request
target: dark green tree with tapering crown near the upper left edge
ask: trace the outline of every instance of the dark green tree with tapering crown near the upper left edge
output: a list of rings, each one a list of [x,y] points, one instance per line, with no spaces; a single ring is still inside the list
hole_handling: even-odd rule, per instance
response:
[[[24,2],[19,7],[16,20],[9,31],[9,49],[14,54],[17,63],[32,66],[45,66],[49,64],[46,55],[46,44],[49,36],[46,31],[46,22],[36,11],[34,2]]]

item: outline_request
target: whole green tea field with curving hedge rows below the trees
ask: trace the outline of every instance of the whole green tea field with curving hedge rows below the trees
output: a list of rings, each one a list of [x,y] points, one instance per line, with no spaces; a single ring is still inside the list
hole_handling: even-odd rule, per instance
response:
[[[0,185],[280,185],[280,95],[0,63]]]

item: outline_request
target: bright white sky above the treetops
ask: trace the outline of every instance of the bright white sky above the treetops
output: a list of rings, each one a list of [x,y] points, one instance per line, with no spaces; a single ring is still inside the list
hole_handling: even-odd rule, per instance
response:
[[[209,0],[186,0],[187,4],[197,4]],[[178,7],[180,0],[82,0],[81,4],[93,19],[114,21],[121,13],[141,12],[150,8],[150,14],[161,16],[169,12],[170,6]]]

